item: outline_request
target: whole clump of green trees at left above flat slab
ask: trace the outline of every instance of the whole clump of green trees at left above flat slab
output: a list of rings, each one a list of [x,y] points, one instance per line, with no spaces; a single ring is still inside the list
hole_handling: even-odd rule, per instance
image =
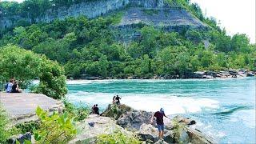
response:
[[[52,98],[62,98],[66,93],[64,70],[45,56],[34,54],[18,46],[7,45],[0,48],[1,83],[16,78],[25,88],[34,78],[40,83],[34,92],[46,94]]]

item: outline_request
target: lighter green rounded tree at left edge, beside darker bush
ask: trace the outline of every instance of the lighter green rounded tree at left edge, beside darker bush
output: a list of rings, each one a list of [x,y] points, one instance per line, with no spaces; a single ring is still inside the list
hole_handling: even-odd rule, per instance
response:
[[[4,46],[0,48],[0,75],[2,82],[16,78],[20,85],[26,87],[36,78],[41,68],[41,58],[32,51],[18,46]]]

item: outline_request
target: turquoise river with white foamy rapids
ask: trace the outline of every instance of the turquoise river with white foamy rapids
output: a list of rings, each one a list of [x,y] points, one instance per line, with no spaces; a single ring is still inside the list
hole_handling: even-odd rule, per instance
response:
[[[194,118],[221,143],[255,143],[255,78],[68,81],[68,99],[101,110],[114,95],[137,110]]]

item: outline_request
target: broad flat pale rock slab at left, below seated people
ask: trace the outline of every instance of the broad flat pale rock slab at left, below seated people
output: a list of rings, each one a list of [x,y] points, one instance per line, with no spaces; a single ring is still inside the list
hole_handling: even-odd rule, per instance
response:
[[[38,106],[50,113],[64,109],[61,101],[47,97],[44,94],[0,93],[0,102],[10,115],[10,120],[13,120],[11,125],[38,120],[35,114]]]

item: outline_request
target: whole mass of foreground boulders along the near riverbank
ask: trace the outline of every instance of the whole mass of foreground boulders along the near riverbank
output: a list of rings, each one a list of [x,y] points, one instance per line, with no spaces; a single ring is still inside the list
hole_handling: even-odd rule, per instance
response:
[[[164,131],[164,141],[159,141],[156,122],[150,124],[152,112],[143,110],[134,110],[130,106],[120,105],[114,112],[113,107],[109,105],[101,116],[90,114],[89,118],[78,123],[78,128],[82,133],[78,134],[70,143],[94,143],[100,134],[111,134],[115,130],[121,130],[124,134],[133,134],[140,138],[142,143],[216,143],[213,138],[202,134],[200,130],[193,128],[194,120],[176,116],[170,120],[164,118],[166,129]],[[88,123],[93,122],[94,126]],[[175,123],[177,122],[177,123]],[[177,128],[179,127],[179,129]]]

